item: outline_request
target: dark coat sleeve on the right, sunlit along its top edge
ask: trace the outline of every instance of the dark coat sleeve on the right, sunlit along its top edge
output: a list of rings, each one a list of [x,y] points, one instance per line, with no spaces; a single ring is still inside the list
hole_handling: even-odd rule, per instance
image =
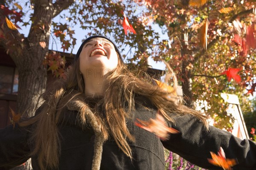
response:
[[[209,164],[210,151],[217,154],[220,147],[227,159],[237,159],[239,164],[233,170],[256,170],[256,143],[241,140],[231,133],[215,128],[206,129],[195,116],[172,116],[175,123],[168,122],[170,127],[180,131],[171,134],[170,139],[162,141],[166,149],[177,153],[191,163],[209,170],[222,170],[221,167]]]

